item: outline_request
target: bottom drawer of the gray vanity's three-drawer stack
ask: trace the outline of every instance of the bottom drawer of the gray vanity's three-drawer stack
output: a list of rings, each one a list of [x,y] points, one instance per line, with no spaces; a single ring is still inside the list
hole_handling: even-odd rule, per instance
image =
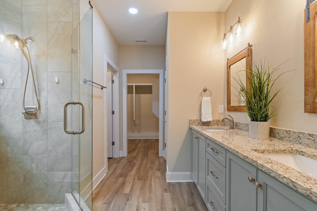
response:
[[[206,182],[206,206],[209,211],[225,211],[226,207],[214,192],[211,184]]]

